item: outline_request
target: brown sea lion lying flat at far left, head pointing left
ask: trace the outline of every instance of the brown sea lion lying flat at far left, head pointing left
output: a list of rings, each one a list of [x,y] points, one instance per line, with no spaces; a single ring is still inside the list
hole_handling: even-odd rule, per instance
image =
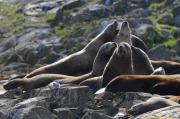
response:
[[[6,90],[15,89],[22,87],[24,91],[32,90],[35,88],[43,87],[48,85],[50,82],[58,79],[72,78],[71,76],[63,74],[39,74],[32,78],[17,78],[9,81],[3,88]]]

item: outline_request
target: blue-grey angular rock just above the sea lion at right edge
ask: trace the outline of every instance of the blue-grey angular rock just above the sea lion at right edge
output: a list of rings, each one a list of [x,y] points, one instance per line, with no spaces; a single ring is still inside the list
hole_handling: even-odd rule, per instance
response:
[[[152,60],[171,60],[177,57],[176,53],[169,50],[164,44],[150,49],[148,56]]]

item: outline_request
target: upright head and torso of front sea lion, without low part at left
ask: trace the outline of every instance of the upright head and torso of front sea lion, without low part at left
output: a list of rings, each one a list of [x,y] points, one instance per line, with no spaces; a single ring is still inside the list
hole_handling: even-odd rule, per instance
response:
[[[106,86],[118,75],[133,74],[132,61],[131,46],[126,42],[120,43],[104,69],[102,86]]]

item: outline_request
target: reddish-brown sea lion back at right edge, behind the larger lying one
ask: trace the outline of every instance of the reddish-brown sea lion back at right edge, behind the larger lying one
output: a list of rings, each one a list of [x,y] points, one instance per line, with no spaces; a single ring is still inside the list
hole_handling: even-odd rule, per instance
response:
[[[166,74],[180,74],[180,63],[167,60],[151,60],[154,68],[163,67]]]

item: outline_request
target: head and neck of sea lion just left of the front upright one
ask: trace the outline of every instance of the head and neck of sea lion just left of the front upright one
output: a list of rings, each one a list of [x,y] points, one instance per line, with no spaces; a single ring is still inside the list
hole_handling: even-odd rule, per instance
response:
[[[106,66],[116,47],[117,44],[115,42],[107,42],[100,47],[93,62],[92,74],[94,76],[102,75],[104,67]]]

